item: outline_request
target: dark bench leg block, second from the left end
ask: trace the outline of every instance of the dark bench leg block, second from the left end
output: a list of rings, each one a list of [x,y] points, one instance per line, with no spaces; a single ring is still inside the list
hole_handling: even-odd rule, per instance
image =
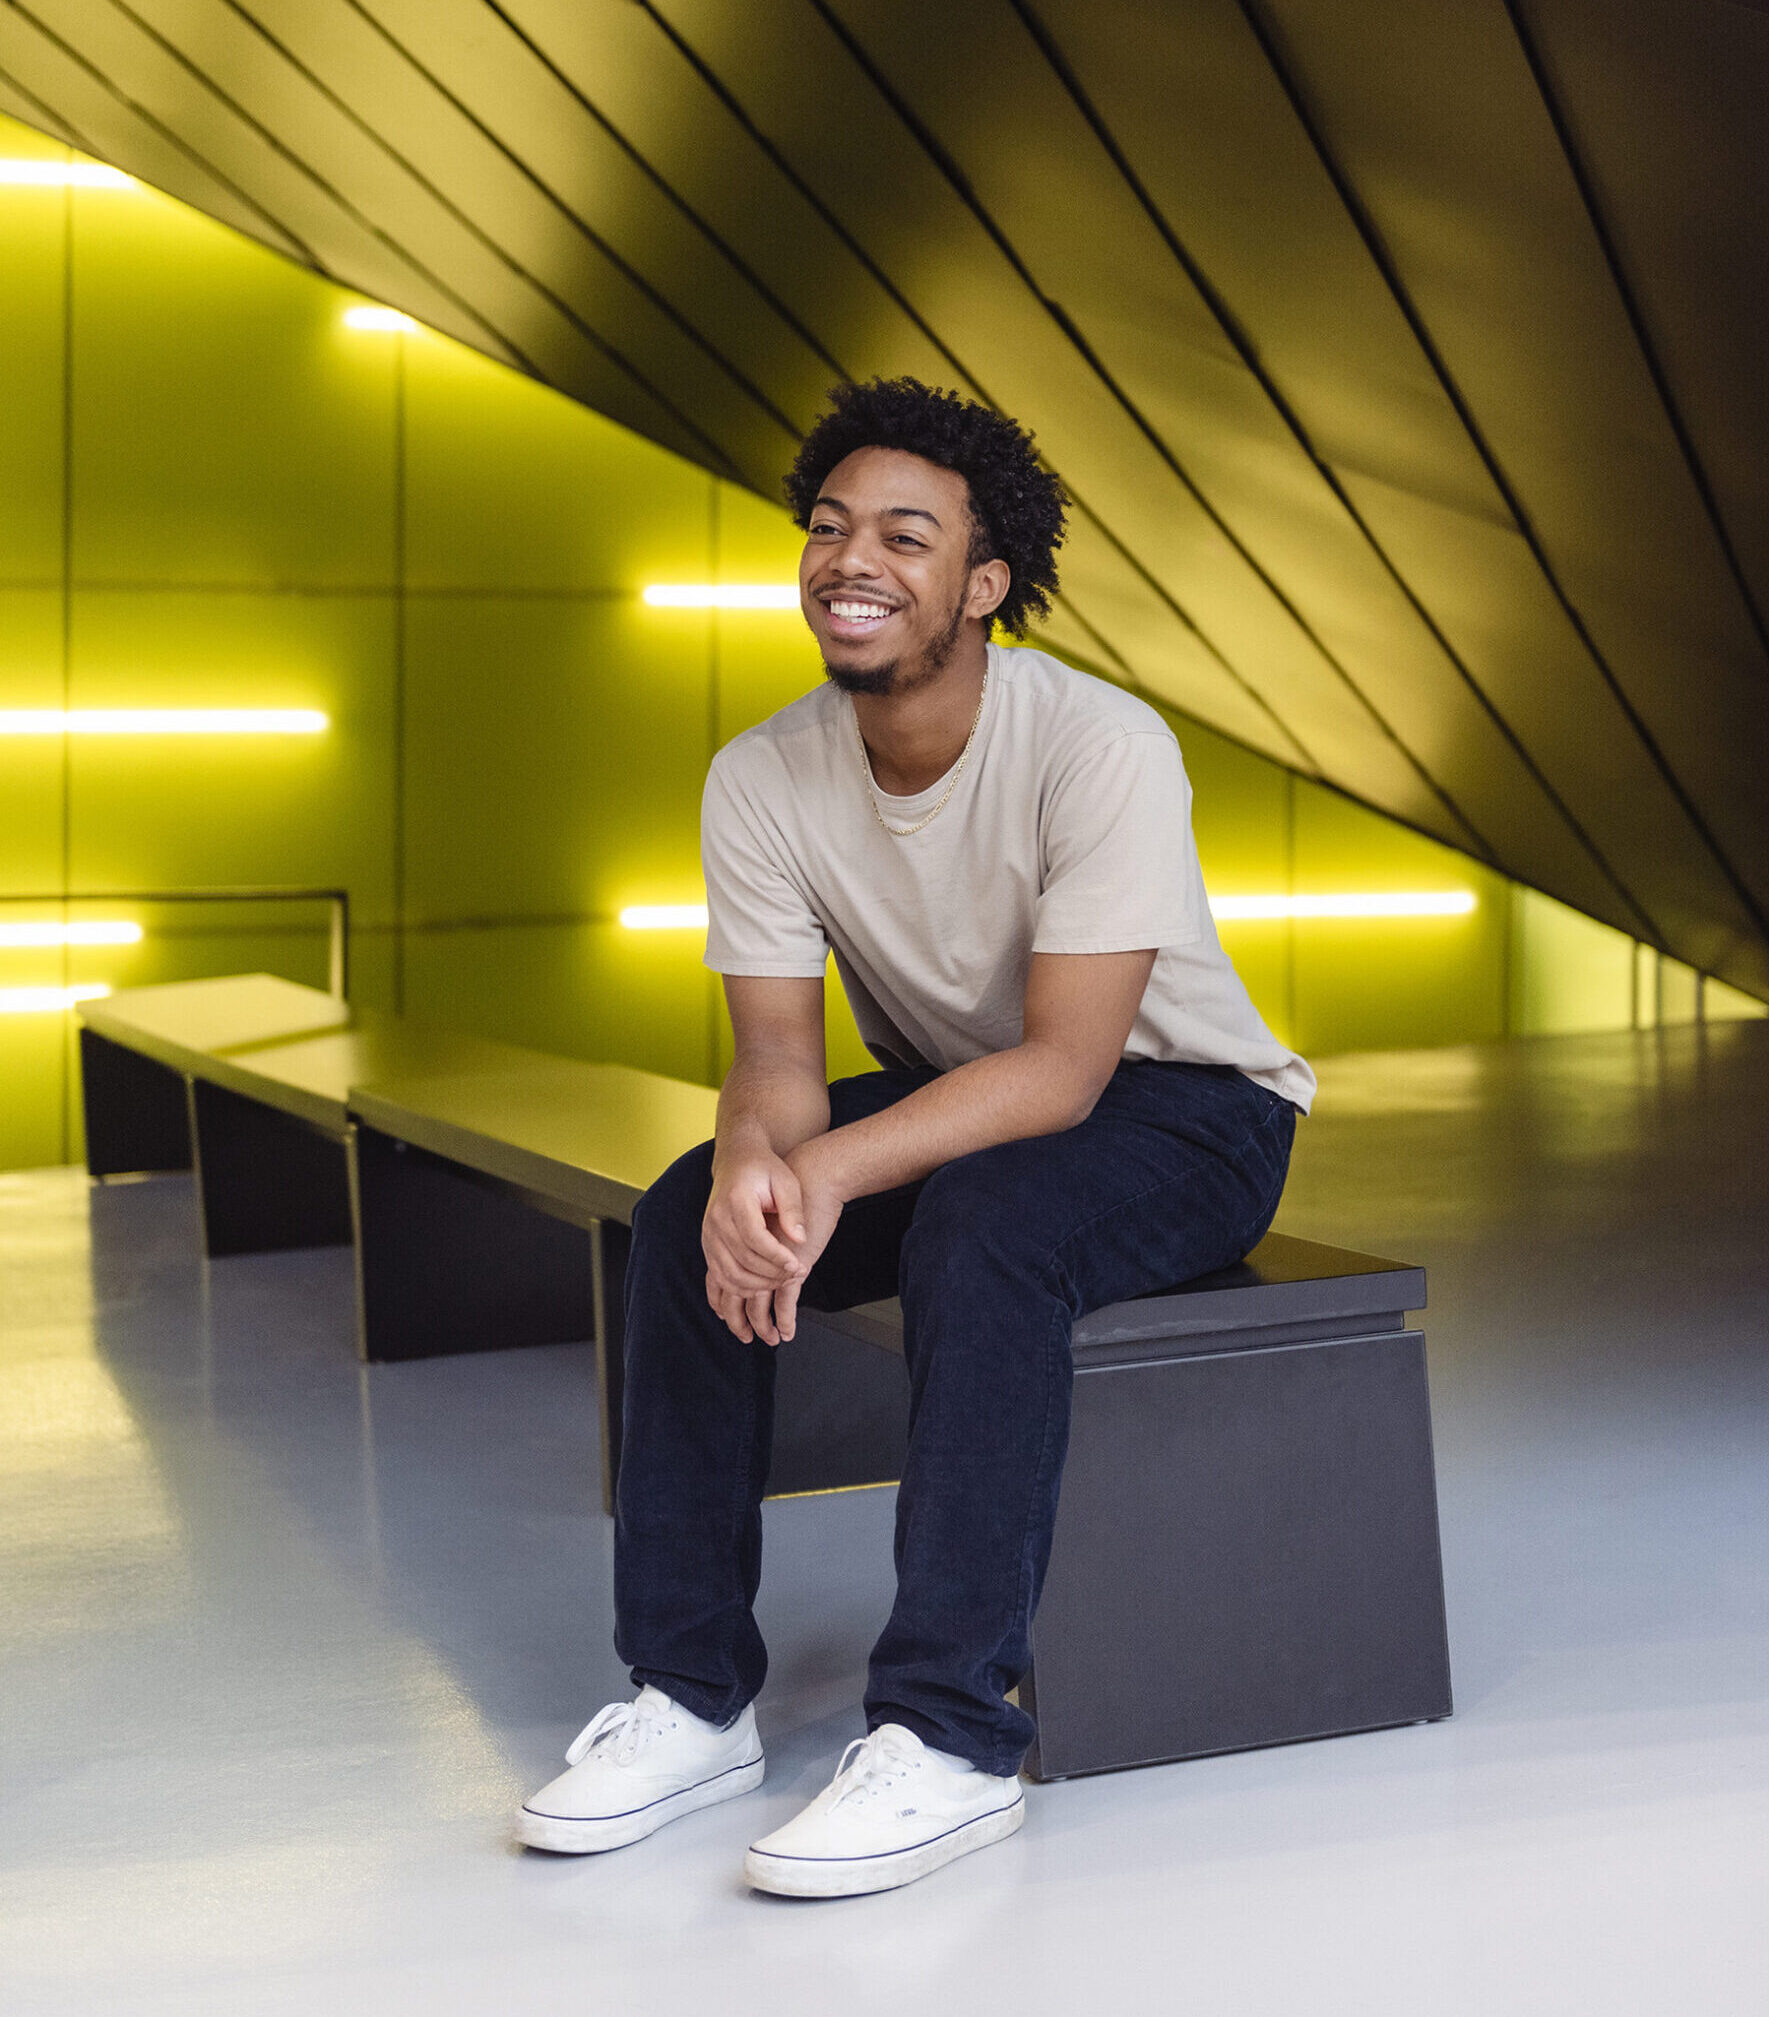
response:
[[[343,1142],[258,1099],[192,1079],[190,1144],[204,1253],[212,1261],[349,1240]]]

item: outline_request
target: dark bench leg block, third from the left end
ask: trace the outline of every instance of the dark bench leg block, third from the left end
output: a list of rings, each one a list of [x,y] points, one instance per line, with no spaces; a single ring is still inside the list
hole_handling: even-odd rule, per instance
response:
[[[595,1335],[593,1236],[583,1226],[361,1121],[351,1125],[349,1168],[361,1357]]]

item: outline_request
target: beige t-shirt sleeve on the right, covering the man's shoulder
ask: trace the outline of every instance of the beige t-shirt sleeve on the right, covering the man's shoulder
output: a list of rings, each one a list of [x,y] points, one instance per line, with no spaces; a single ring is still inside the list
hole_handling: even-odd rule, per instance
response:
[[[1202,938],[1192,787],[1162,730],[1075,764],[1045,815],[1033,952],[1138,952]]]

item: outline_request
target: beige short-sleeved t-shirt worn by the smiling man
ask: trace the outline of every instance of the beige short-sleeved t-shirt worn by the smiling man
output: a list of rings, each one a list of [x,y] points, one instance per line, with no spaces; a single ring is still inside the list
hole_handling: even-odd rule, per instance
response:
[[[1154,946],[1126,1059],[1234,1065],[1307,1113],[1315,1075],[1216,940],[1172,730],[1045,651],[992,643],[988,664],[970,762],[908,839],[873,817],[853,704],[833,686],[714,756],[706,964],[813,978],[833,952],[873,1057],[950,1071],[1021,1041],[1035,952]],[[914,825],[950,783],[879,793],[883,817]]]

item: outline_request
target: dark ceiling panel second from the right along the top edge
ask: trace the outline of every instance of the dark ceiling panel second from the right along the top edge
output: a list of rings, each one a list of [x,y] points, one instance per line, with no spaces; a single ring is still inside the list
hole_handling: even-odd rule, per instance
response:
[[[1761,930],[1769,668],[1505,8],[1269,12],[1555,577]],[[1569,712],[1557,762],[1579,760],[1581,732]]]

